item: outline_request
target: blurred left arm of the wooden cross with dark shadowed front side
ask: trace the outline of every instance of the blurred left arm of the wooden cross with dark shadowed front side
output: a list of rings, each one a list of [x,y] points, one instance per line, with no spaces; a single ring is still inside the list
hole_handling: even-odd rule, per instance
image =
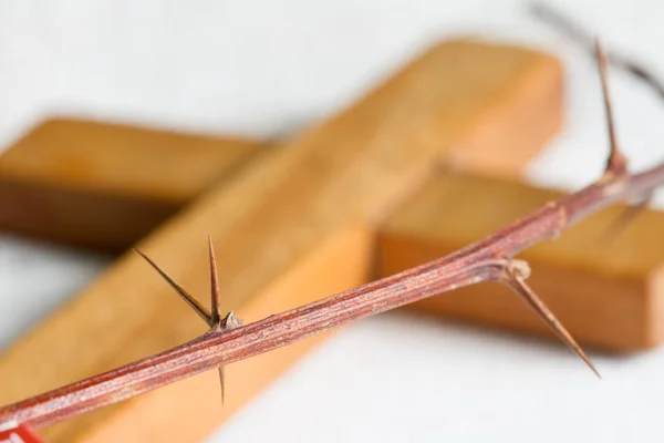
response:
[[[51,119],[0,156],[0,229],[121,253],[264,144]]]

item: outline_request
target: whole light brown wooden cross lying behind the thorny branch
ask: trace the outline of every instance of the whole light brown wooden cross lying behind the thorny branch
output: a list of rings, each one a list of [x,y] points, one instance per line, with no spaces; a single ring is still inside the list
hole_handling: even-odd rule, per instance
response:
[[[248,322],[444,255],[525,214],[552,192],[509,177],[560,127],[562,91],[561,66],[547,54],[454,40],[276,145],[82,121],[39,126],[0,159],[0,225],[123,254],[2,356],[0,403],[205,330],[145,261],[124,253],[131,246],[204,295],[209,234],[224,303]],[[664,253],[653,245],[662,244],[664,220],[646,212],[603,246],[591,234],[615,210],[532,248],[528,259],[532,286],[582,343],[633,351],[663,336],[655,295]],[[548,334],[499,287],[469,287],[412,308]],[[217,378],[205,374],[43,435],[199,441],[321,338],[227,368],[222,410],[210,389]],[[49,370],[37,371],[44,361]]]

